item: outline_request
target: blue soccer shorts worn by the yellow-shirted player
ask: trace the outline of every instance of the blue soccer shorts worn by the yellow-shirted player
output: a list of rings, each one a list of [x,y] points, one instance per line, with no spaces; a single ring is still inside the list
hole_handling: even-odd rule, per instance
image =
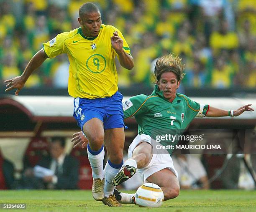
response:
[[[118,91],[111,97],[105,98],[74,98],[74,118],[82,129],[84,124],[93,118],[103,122],[104,129],[124,127],[123,96]]]

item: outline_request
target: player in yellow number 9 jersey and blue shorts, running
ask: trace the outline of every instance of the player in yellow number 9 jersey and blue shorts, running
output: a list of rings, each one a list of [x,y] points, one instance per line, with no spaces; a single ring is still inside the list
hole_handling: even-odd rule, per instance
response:
[[[109,206],[121,206],[115,199],[111,181],[123,165],[124,123],[122,99],[118,92],[115,57],[131,70],[133,57],[120,30],[102,24],[100,10],[94,3],[79,8],[81,27],[58,34],[44,43],[21,76],[6,80],[7,89],[20,89],[28,77],[46,60],[67,54],[69,95],[74,97],[74,118],[89,139],[88,159],[92,167],[92,196]],[[103,170],[104,148],[109,160]]]

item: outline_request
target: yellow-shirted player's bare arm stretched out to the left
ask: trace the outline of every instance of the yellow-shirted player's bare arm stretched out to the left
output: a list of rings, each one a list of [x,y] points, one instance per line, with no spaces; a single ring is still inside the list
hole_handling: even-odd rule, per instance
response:
[[[33,73],[33,71],[36,70],[36,68],[41,66],[41,64],[46,60],[46,58],[48,58],[48,56],[44,52],[44,49],[39,50],[29,61],[28,66],[25,68],[25,70],[20,76],[16,76],[14,78],[5,80],[5,83],[8,83],[6,85],[5,92],[17,88],[15,96],[18,96],[20,90],[23,88],[26,81],[28,80],[28,77]]]

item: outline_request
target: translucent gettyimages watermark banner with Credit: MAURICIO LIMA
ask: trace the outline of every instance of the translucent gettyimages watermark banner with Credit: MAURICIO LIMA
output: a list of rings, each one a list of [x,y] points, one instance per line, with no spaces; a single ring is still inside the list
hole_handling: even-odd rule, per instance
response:
[[[256,154],[253,129],[156,130],[151,133],[154,154]]]

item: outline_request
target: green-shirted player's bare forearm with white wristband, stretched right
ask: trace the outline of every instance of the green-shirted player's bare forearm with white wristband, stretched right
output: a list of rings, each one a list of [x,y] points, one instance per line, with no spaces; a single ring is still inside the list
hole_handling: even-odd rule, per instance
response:
[[[222,109],[210,107],[206,116],[207,117],[239,116],[244,111],[254,111],[254,109],[251,108],[250,106],[251,106],[251,104],[247,104],[247,105],[244,105],[236,110],[231,110],[231,111],[225,111]]]

